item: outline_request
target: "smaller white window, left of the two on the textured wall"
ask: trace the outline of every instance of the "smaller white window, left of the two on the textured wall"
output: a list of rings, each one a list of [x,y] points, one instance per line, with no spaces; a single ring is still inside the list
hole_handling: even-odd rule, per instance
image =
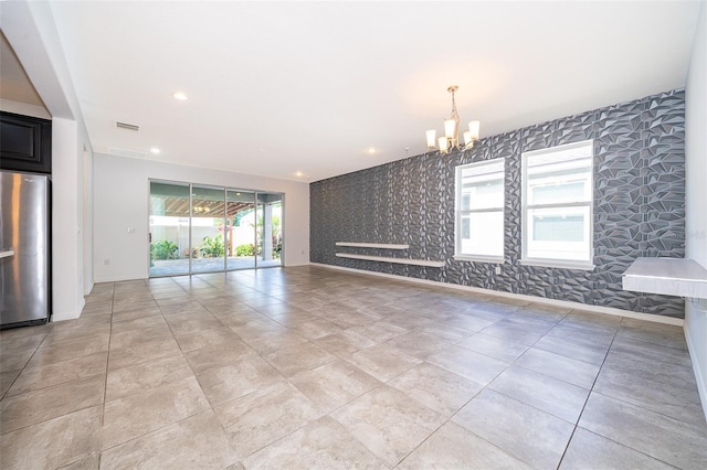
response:
[[[504,159],[456,167],[456,258],[504,259]]]

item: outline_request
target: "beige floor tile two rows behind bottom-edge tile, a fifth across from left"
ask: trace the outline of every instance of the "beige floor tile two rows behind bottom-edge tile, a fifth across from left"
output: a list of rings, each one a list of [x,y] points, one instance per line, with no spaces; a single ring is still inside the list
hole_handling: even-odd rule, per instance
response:
[[[110,402],[192,375],[189,364],[181,354],[113,370],[108,372],[106,378],[105,399]]]

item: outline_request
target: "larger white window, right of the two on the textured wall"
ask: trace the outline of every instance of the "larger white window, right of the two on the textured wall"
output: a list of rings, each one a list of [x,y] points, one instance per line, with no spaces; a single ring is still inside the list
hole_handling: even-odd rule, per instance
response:
[[[592,269],[592,160],[587,140],[523,154],[523,261]]]

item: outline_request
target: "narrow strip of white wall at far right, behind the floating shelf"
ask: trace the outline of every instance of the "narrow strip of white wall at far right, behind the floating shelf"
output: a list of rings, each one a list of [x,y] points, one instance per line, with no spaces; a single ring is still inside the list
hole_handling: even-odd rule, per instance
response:
[[[686,93],[686,220],[687,258],[707,268],[707,4],[701,3],[687,75]],[[707,417],[707,299],[686,302],[685,338],[689,345],[703,409]]]

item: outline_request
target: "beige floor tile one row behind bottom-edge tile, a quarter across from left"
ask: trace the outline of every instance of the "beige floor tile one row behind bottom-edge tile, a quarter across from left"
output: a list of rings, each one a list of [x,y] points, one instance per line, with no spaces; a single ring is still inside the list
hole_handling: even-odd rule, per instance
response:
[[[194,377],[106,402],[102,447],[109,449],[205,409],[209,402]]]

